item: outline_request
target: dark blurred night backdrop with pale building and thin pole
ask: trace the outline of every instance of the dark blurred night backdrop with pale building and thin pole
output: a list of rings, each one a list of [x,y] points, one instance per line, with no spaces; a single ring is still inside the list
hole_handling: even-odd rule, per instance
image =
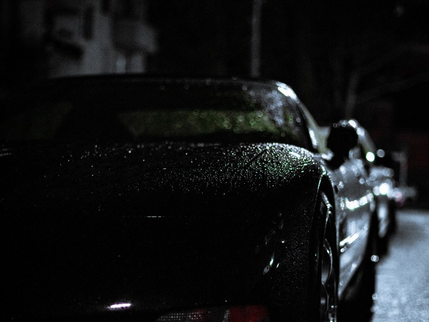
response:
[[[429,1],[2,0],[0,95],[48,77],[239,76],[355,118],[429,207]]]

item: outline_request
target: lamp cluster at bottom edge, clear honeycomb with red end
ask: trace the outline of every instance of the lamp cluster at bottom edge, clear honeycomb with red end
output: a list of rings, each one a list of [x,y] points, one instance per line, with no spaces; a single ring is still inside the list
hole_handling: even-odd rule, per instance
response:
[[[160,316],[156,322],[269,322],[263,305],[184,310]]]

